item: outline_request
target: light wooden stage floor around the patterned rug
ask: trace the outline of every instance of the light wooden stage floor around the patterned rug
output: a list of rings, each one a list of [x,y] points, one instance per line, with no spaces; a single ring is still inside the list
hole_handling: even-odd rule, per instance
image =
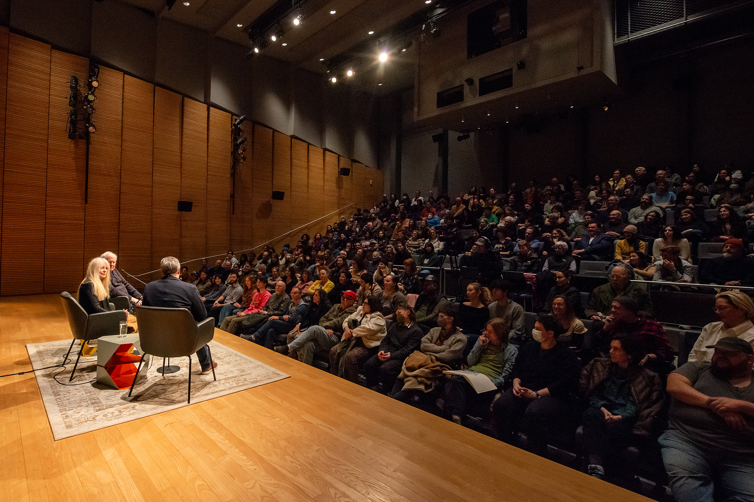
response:
[[[57,295],[0,299],[0,375],[70,339]],[[33,374],[0,379],[0,500],[648,500],[215,331],[290,379],[53,441]],[[218,368],[222,372],[222,366]]]

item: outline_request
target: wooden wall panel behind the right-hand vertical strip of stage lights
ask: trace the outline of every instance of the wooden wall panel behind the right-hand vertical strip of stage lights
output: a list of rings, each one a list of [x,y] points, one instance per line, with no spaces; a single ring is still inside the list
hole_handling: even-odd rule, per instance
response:
[[[237,117],[231,117],[235,120]],[[238,163],[235,169],[234,209],[231,214],[231,248],[241,253],[251,248],[253,234],[256,231],[253,211],[253,171],[254,124],[249,120],[241,124],[241,132],[246,138],[246,163]],[[227,249],[225,251],[228,251]],[[247,253],[248,254],[248,253]]]

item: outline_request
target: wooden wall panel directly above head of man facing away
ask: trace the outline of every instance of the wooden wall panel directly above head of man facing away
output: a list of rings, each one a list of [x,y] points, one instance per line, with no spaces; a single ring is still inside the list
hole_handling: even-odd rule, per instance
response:
[[[181,260],[181,111],[183,98],[155,87],[155,148],[152,154],[152,269],[160,260],[173,256]]]

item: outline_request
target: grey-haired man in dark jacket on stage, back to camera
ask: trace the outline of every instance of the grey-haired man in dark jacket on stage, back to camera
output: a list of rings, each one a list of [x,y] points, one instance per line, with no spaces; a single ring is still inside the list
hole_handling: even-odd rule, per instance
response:
[[[181,281],[178,276],[181,263],[178,258],[167,256],[160,261],[162,278],[152,281],[144,288],[143,305],[147,307],[169,307],[173,309],[187,309],[195,321],[201,322],[207,318],[207,309],[201,301],[199,291],[194,284]],[[210,361],[210,350],[207,345],[196,351],[196,357],[201,364],[200,375],[209,375],[215,361]]]

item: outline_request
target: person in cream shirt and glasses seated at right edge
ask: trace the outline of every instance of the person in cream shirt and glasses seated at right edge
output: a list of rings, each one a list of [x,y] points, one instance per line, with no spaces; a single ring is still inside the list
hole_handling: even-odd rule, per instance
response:
[[[711,322],[702,328],[688,362],[709,363],[712,361],[712,350],[707,345],[714,345],[721,338],[728,336],[740,338],[749,342],[754,348],[754,302],[742,291],[723,291],[715,297],[715,313],[719,322]]]

